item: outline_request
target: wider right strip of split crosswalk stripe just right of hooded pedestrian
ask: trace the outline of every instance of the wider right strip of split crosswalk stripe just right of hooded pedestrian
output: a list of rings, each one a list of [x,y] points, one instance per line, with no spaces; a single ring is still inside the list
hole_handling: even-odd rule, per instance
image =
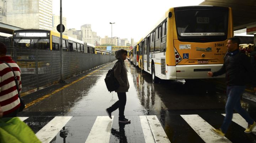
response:
[[[150,116],[147,116],[147,119],[152,132],[151,134],[153,134],[153,137],[154,137],[154,141],[158,143],[171,143],[164,129],[162,128],[161,123],[159,122],[157,116],[150,115]]]

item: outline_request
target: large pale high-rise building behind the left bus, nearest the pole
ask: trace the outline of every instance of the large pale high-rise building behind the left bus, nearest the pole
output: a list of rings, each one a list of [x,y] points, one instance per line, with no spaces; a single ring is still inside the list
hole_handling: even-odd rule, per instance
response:
[[[6,24],[52,30],[52,0],[7,0]]]

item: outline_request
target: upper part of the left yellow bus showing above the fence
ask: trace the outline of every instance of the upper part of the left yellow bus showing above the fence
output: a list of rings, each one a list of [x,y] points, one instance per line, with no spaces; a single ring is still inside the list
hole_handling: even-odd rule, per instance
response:
[[[51,30],[22,29],[14,30],[12,46],[38,48],[44,50],[59,50],[60,34]],[[63,35],[63,51],[96,53],[95,46],[75,38]]]

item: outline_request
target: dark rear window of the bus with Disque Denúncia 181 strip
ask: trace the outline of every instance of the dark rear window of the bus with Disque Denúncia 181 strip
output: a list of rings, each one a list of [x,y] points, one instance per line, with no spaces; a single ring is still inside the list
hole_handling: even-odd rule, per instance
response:
[[[175,20],[180,41],[210,42],[227,38],[228,8],[175,9]]]

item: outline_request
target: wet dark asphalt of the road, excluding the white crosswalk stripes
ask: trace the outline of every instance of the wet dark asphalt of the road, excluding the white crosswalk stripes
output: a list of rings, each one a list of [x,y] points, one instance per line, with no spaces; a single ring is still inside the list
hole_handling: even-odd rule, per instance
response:
[[[118,124],[118,110],[114,115],[110,142],[144,143],[139,115],[156,115],[172,143],[196,142],[204,140],[182,119],[180,115],[197,114],[214,128],[222,124],[225,113],[226,95],[224,90],[219,90],[211,80],[161,80],[153,84],[151,75],[140,71],[129,61],[125,61],[128,69],[130,83],[127,92],[127,103],[124,114],[132,120],[131,124]],[[118,98],[117,93],[108,92],[104,78],[109,69],[114,65],[109,63],[84,74],[68,79],[68,84],[93,71],[72,85],[52,94],[51,96],[26,108],[18,116],[30,117],[25,120],[36,133],[55,116],[73,116],[65,125],[67,130],[52,142],[85,142],[97,116],[106,116],[105,109],[114,104]],[[40,96],[47,95],[57,90],[62,85],[52,86]],[[31,102],[38,97],[28,99]],[[242,107],[256,119],[255,102],[242,99]],[[226,137],[231,142],[256,142],[252,133],[243,133],[244,129],[232,122]]]

